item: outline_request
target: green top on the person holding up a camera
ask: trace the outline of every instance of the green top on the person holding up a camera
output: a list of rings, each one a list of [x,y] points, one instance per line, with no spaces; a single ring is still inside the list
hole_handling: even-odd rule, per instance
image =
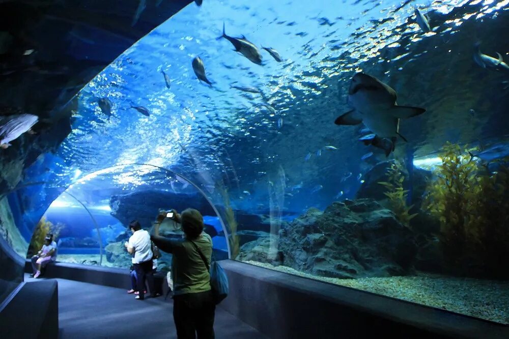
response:
[[[190,240],[168,239],[151,236],[161,251],[173,254],[172,279],[175,295],[210,291],[210,274],[202,257]],[[202,251],[210,267],[212,256],[212,238],[203,232],[192,240]]]

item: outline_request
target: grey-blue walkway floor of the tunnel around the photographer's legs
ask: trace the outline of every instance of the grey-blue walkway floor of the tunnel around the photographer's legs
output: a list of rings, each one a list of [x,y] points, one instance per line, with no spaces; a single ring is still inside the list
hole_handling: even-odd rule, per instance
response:
[[[126,289],[57,279],[59,283],[59,321],[66,338],[176,338],[173,300],[164,296],[135,300]],[[34,281],[25,274],[25,281]],[[265,339],[265,335],[216,309],[217,338]]]

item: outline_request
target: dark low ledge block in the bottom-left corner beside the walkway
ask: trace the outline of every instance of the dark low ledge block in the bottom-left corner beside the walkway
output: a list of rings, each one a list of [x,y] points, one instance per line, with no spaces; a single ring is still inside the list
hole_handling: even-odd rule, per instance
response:
[[[22,283],[0,311],[2,339],[59,337],[58,284],[55,280]]]

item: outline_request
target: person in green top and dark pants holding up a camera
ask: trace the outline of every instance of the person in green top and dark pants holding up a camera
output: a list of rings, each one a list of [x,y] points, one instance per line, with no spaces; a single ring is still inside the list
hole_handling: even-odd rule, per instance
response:
[[[179,339],[214,338],[214,313],[210,274],[200,255],[210,265],[212,238],[203,232],[202,214],[187,208],[178,214],[173,210],[173,219],[184,231],[183,239],[168,239],[159,236],[159,226],[167,212],[161,211],[152,228],[151,239],[161,251],[172,253],[173,319]]]

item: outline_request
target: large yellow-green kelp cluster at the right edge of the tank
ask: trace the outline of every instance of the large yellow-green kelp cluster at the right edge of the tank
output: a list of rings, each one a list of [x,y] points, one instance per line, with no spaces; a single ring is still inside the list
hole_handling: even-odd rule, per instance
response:
[[[445,266],[460,275],[509,278],[509,169],[474,160],[467,146],[447,142],[425,206],[440,221]],[[506,160],[507,161],[507,160]]]

